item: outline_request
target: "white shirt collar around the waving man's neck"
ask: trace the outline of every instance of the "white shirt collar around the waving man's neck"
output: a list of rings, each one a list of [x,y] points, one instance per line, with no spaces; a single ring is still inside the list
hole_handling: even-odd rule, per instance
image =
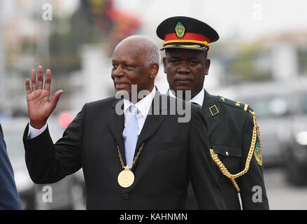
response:
[[[155,97],[156,94],[156,87],[153,87],[150,94],[148,94],[146,97],[141,99],[139,102],[134,104],[138,111],[141,113],[142,116],[146,117],[148,115],[148,111],[150,109],[150,106],[152,104],[152,99]],[[129,106],[133,105],[131,101],[124,99],[124,113],[129,113]]]

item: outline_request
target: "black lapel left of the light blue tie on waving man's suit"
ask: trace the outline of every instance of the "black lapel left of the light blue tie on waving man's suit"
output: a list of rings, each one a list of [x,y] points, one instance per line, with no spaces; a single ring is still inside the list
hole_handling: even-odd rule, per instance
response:
[[[122,105],[122,115],[116,113],[116,105]],[[109,108],[110,113],[108,113],[108,127],[112,133],[117,146],[120,147],[120,153],[122,153],[122,159],[126,161],[124,155],[124,139],[122,138],[122,132],[124,131],[124,102],[122,99],[117,99]]]

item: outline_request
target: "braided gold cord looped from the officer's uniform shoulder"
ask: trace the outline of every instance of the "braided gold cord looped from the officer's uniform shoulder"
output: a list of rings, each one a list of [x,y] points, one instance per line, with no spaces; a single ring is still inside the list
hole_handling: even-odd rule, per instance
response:
[[[217,167],[219,167],[222,174],[224,176],[227,176],[230,179],[231,183],[236,188],[237,193],[240,193],[240,188],[238,188],[238,184],[236,183],[235,179],[237,179],[239,176],[243,176],[244,174],[248,172],[248,169],[250,168],[250,160],[252,160],[252,153],[254,152],[254,149],[255,149],[257,136],[258,136],[259,145],[261,148],[260,131],[259,131],[259,125],[257,125],[256,115],[254,111],[250,111],[250,113],[252,114],[252,118],[254,120],[254,127],[252,128],[252,141],[250,143],[250,151],[248,152],[248,158],[246,159],[245,169],[243,169],[243,171],[238,172],[238,174],[230,174],[227,168],[221,162],[221,160],[217,157],[217,154],[213,151],[213,149],[210,148],[210,153],[211,153],[211,157],[213,158],[213,161],[215,162]]]

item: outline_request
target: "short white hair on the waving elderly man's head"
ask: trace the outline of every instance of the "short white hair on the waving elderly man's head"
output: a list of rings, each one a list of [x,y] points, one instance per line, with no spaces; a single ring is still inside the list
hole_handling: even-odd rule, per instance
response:
[[[127,38],[124,38],[124,40],[122,40],[120,43],[131,39],[138,39],[139,41],[143,41],[145,47],[145,64],[147,66],[149,66],[152,63],[159,64],[160,62],[159,47],[157,43],[155,43],[155,41],[152,40],[152,38],[143,35],[132,35],[128,36]],[[120,43],[118,45],[120,45]]]

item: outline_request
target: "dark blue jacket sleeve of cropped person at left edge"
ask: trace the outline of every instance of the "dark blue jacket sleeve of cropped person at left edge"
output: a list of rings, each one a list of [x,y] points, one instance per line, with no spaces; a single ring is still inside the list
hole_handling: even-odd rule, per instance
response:
[[[0,124],[0,210],[22,209]]]

